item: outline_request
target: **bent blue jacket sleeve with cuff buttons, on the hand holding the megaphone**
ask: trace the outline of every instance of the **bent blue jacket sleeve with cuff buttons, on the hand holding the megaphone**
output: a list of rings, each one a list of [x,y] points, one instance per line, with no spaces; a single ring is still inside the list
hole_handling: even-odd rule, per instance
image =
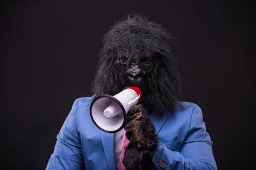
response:
[[[206,132],[202,111],[198,106],[193,110],[189,131],[180,152],[168,150],[160,142],[153,162],[157,169],[217,169],[212,154],[212,141]]]

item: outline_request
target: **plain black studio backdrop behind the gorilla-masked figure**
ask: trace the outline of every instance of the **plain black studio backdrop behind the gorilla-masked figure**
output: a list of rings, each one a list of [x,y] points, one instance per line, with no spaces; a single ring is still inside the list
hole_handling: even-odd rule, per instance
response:
[[[72,103],[92,95],[102,36],[137,12],[177,38],[184,101],[202,108],[218,168],[250,169],[255,10],[248,2],[2,2],[0,166],[45,169]]]

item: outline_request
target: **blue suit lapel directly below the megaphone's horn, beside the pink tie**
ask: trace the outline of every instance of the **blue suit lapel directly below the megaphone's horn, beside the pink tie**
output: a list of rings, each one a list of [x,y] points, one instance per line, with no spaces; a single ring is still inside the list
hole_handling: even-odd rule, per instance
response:
[[[100,139],[108,161],[109,169],[115,170],[114,134],[100,131]]]

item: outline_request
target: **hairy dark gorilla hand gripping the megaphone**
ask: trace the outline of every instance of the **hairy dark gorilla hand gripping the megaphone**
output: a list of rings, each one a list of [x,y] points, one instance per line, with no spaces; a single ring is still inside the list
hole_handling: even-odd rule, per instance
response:
[[[125,150],[123,164],[129,169],[155,169],[152,162],[158,138],[148,113],[140,104],[127,113],[125,136],[130,140]]]

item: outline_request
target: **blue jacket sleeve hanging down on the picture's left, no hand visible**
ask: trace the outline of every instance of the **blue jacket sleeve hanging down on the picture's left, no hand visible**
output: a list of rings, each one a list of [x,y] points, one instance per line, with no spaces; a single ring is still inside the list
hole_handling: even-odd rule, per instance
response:
[[[77,105],[76,99],[57,135],[54,152],[46,169],[84,169],[81,139],[76,127]]]

